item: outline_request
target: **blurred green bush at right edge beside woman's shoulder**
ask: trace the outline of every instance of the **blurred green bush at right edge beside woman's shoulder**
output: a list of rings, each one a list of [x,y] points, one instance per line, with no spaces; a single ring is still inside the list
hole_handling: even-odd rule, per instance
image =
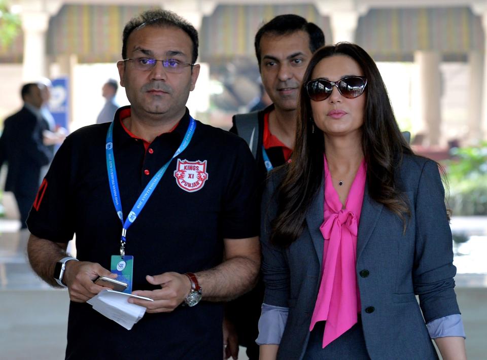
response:
[[[487,215],[487,141],[476,147],[452,150],[446,165],[448,206],[454,215]]]

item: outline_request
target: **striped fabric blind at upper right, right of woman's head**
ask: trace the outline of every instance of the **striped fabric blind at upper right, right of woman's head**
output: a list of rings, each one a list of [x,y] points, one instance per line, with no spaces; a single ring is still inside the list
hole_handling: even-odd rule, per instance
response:
[[[415,50],[455,57],[481,51],[481,19],[469,8],[372,9],[359,19],[356,43],[375,60],[410,60]]]

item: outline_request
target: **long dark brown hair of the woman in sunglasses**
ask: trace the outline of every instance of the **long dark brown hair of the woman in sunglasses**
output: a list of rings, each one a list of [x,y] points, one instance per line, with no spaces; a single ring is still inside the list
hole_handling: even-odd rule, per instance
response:
[[[362,151],[367,164],[368,193],[396,213],[406,226],[409,209],[398,190],[395,169],[403,154],[412,154],[401,134],[387,94],[386,86],[374,60],[360,46],[338,43],[320,48],[309,61],[303,84],[311,79],[316,65],[324,58],[345,55],[355,60],[367,78]],[[272,221],[271,242],[288,246],[304,228],[306,211],[317,196],[323,178],[325,140],[321,131],[312,131],[312,112],[306,89],[301,86],[292,162],[277,188],[277,215]]]

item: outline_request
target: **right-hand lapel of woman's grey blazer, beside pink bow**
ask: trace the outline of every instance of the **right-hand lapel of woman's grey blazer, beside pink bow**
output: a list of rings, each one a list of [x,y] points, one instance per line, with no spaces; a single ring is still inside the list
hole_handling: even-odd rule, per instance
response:
[[[384,205],[372,200],[369,196],[367,182],[365,183],[364,202],[362,203],[362,212],[360,213],[360,224],[357,236],[357,259],[370,239],[372,231],[377,225],[379,215]]]

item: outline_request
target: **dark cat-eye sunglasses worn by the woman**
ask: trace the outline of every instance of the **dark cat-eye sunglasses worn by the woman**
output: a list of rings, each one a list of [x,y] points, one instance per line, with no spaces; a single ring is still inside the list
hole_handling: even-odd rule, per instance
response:
[[[348,99],[353,99],[362,95],[367,85],[367,79],[363,76],[350,76],[338,81],[325,79],[310,80],[306,83],[306,91],[313,101],[323,101],[327,99],[336,86],[338,92]]]

